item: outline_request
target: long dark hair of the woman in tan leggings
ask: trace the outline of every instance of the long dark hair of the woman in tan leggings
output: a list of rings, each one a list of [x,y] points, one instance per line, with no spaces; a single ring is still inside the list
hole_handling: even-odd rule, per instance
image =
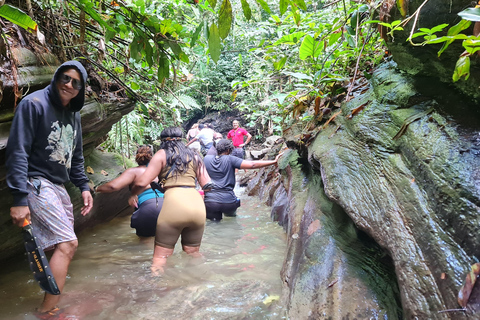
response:
[[[183,131],[178,127],[166,128],[160,134],[160,149],[165,150],[167,166],[172,167],[174,163],[176,165],[173,176],[187,172],[190,161],[193,161],[195,171],[203,166],[202,158],[193,149],[185,147],[182,137]]]

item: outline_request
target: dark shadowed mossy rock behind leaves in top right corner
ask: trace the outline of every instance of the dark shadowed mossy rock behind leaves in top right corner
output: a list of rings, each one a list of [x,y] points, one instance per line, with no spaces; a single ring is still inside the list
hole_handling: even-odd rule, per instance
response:
[[[390,3],[395,2],[390,1]],[[402,3],[407,7],[407,17],[411,17],[417,12],[419,7],[424,4],[424,0],[402,1]],[[433,28],[447,23],[449,26],[446,27],[443,34],[441,34],[441,36],[444,36],[450,27],[462,20],[457,13],[466,8],[473,8],[474,6],[475,1],[470,0],[427,1],[419,11],[415,32],[418,32],[419,28]],[[390,11],[388,21],[404,20],[405,18],[406,17],[402,17],[400,11],[394,5]],[[421,43],[424,39],[423,37],[418,37],[413,39],[413,42],[418,44],[418,46],[409,45],[406,41],[410,36],[414,21],[415,18],[411,19],[403,31],[395,31],[394,38],[392,39],[390,37],[387,42],[392,57],[395,62],[397,62],[399,68],[417,77],[440,79],[443,83],[453,85],[463,94],[479,101],[480,60],[478,56],[473,56],[470,59],[471,67],[468,81],[462,79],[452,84],[452,75],[455,70],[456,61],[465,51],[465,48],[462,47],[462,40],[456,40],[450,44],[440,56],[438,56],[438,51],[442,48],[443,43],[422,46]],[[473,25],[474,23],[462,33],[473,35]],[[428,86],[428,82],[424,83],[424,85]],[[438,87],[434,89],[438,89]]]

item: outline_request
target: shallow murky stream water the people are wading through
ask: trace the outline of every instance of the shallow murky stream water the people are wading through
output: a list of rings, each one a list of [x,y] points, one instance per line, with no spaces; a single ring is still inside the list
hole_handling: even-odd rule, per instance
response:
[[[270,208],[238,190],[236,218],[207,223],[191,258],[177,244],[165,274],[153,277],[153,238],[140,240],[130,217],[79,235],[60,302],[77,319],[284,319],[280,269],[285,233]],[[43,292],[25,257],[0,274],[0,319],[36,319]]]

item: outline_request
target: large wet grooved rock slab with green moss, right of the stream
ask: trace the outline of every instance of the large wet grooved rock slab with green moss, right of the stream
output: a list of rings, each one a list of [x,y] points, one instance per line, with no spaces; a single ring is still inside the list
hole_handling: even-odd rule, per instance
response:
[[[292,319],[465,319],[439,311],[459,308],[479,258],[480,116],[464,101],[467,114],[448,112],[456,105],[414,83],[384,65],[308,153],[279,165],[270,201],[288,233]],[[274,183],[256,176],[248,189],[262,196]]]

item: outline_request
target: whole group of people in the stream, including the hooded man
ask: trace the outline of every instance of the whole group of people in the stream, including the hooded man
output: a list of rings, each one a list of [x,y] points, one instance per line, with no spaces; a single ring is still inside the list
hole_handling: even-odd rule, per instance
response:
[[[161,132],[157,152],[152,146],[140,146],[137,167],[91,190],[84,169],[80,119],[86,81],[87,72],[80,62],[63,63],[50,85],[18,104],[6,149],[13,223],[21,227],[25,221],[31,222],[38,245],[51,251],[49,264],[60,292],[78,246],[66,182],[71,181],[81,191],[82,215],[93,207],[92,193],[115,192],[128,186],[129,204],[136,208],[131,226],[139,236],[155,237],[151,270],[159,274],[180,236],[182,249],[199,256],[206,220],[236,215],[240,205],[234,193],[236,170],[275,165],[280,157],[244,160],[244,146],[252,137],[238,121],[233,122],[227,139],[208,125],[193,127],[186,144],[183,130],[171,127]],[[35,315],[40,319],[61,316],[57,306],[60,296],[45,293]]]

